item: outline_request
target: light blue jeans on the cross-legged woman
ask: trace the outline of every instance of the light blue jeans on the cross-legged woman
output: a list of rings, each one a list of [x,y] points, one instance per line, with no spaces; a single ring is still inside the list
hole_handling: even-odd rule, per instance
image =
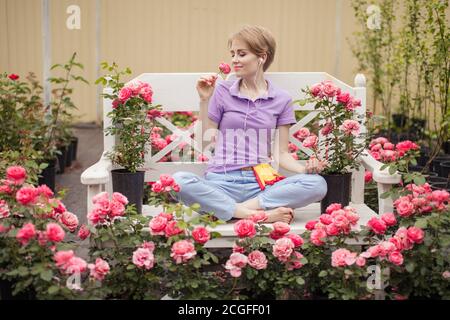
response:
[[[214,213],[222,220],[233,218],[236,203],[258,197],[264,210],[277,207],[292,209],[322,200],[327,194],[327,183],[318,174],[299,173],[267,185],[258,185],[253,171],[234,170],[225,173],[207,172],[204,178],[178,171],[173,178],[180,185],[177,200],[185,205],[200,204],[201,211]]]

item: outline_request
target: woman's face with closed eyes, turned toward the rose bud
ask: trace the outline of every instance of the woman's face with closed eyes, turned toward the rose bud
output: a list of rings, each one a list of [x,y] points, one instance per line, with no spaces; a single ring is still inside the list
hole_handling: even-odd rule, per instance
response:
[[[263,64],[259,65],[259,57],[249,50],[245,42],[239,39],[233,40],[230,54],[231,66],[237,77],[246,78],[253,76],[258,68],[262,70]]]

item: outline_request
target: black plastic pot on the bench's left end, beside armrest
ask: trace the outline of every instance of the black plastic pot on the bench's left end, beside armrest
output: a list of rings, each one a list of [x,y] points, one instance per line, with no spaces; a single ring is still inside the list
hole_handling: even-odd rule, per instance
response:
[[[139,214],[142,213],[144,198],[144,171],[135,173],[125,169],[111,170],[113,190],[128,198],[129,204],[135,204]]]

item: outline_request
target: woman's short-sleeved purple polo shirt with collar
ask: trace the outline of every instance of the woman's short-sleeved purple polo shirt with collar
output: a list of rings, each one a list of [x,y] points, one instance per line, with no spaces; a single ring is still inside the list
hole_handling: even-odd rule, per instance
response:
[[[267,94],[252,101],[239,92],[240,80],[216,82],[209,100],[208,117],[218,124],[219,131],[205,174],[269,163],[275,129],[296,123],[287,91],[266,79]]]

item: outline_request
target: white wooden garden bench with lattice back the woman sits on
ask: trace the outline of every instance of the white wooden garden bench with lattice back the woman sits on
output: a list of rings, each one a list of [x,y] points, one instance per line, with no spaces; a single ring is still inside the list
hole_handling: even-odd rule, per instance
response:
[[[144,73],[138,76],[135,80],[141,80],[149,83],[154,91],[153,99],[154,104],[161,104],[163,111],[198,111],[199,110],[199,98],[196,90],[197,80],[209,73]],[[365,77],[362,74],[358,74],[355,77],[355,87],[332,77],[325,72],[268,72],[266,78],[270,79],[276,86],[288,91],[293,100],[303,98],[301,92],[302,88],[311,86],[320,81],[329,79],[332,80],[343,91],[349,92],[358,99],[361,99],[361,107],[357,108],[356,112],[365,115],[366,114],[366,88]],[[229,75],[228,79],[235,79],[234,75]],[[104,89],[105,93],[110,93],[110,88]],[[112,101],[109,99],[103,100],[103,121],[104,127],[108,127],[111,124],[111,120],[106,116],[108,112],[112,110]],[[314,110],[312,105],[295,106],[295,110],[308,111],[307,115],[300,119],[295,125],[290,128],[290,141],[297,145],[306,154],[311,154],[311,151],[302,147],[301,142],[293,137],[293,134],[304,127],[308,122],[312,121],[317,116],[317,111]],[[157,162],[164,155],[171,150],[175,149],[182,141],[191,144],[195,148],[196,153],[201,153],[201,126],[197,122],[196,126],[193,126],[190,130],[184,132],[177,130],[177,127],[167,121],[165,118],[158,118],[158,122],[162,126],[167,127],[169,130],[176,133],[180,138],[168,144],[167,147],[151,156],[151,152],[148,153],[145,161],[145,181],[155,181],[159,179],[160,174],[174,174],[177,171],[190,171],[198,175],[202,175],[207,163],[202,162]],[[363,128],[365,130],[365,128]],[[194,139],[190,138],[191,133],[194,133]],[[319,139],[321,137],[319,136]],[[90,211],[92,208],[92,197],[99,192],[108,191],[112,192],[111,174],[113,169],[111,161],[106,158],[105,153],[112,149],[115,143],[114,136],[104,135],[104,152],[101,159],[88,169],[86,169],[81,175],[81,182],[87,185],[87,209]],[[149,148],[151,146],[149,145]],[[376,161],[372,156],[365,152],[367,155],[361,156],[361,166],[359,170],[354,170],[352,175],[352,192],[350,206],[354,207],[360,215],[360,225],[364,225],[367,221],[377,215],[372,209],[364,204],[364,169],[367,169],[373,173],[373,179],[378,185],[378,194],[382,194],[388,191],[393,184],[400,182],[400,176],[398,174],[390,175],[387,170],[381,171],[382,163]],[[196,159],[196,157],[195,157]],[[304,164],[304,160],[299,160]],[[294,173],[280,169],[280,172],[286,176],[291,176]],[[392,200],[382,199],[378,197],[379,214],[384,212],[392,212]],[[161,212],[160,208],[150,207],[144,205],[143,213],[148,215],[155,215]],[[295,219],[291,225],[291,230],[294,233],[301,234],[305,231],[305,224],[309,220],[315,219],[320,215],[320,203],[312,203],[306,207],[298,208],[295,210]],[[209,241],[207,245],[209,247],[230,247],[234,241],[233,224],[227,223],[220,225],[216,228],[216,231],[222,234],[221,239],[214,239]]]

